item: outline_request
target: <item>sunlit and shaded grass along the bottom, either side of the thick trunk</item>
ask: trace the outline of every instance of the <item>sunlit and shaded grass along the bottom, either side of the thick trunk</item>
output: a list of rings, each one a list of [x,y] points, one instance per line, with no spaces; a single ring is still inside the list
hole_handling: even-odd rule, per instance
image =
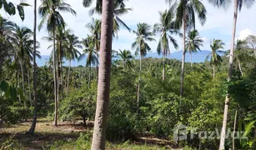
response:
[[[68,122],[62,122],[56,128],[52,123],[45,118],[38,119],[36,133],[34,135],[25,134],[30,128],[31,122],[22,122],[0,128],[0,149],[90,149],[92,127],[83,127],[82,124],[74,125]],[[157,144],[127,141],[125,143],[107,142],[106,149],[158,150],[170,149],[170,147],[168,145],[158,146]]]

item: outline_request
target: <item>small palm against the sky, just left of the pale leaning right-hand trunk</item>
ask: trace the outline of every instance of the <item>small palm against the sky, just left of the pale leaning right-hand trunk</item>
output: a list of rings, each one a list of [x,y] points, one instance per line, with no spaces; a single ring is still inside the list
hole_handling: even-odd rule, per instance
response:
[[[223,52],[220,49],[223,49],[224,45],[225,43],[221,40],[213,39],[213,42],[210,45],[212,52],[206,57],[206,60],[210,58],[210,64],[213,66],[213,79],[215,78],[215,67],[222,62],[222,58],[218,55],[218,52]]]

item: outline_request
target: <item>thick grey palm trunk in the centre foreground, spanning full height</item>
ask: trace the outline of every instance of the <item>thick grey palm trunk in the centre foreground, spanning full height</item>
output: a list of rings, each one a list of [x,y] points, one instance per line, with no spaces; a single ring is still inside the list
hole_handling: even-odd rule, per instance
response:
[[[102,10],[98,95],[92,150],[105,149],[112,56],[113,0],[103,0]]]

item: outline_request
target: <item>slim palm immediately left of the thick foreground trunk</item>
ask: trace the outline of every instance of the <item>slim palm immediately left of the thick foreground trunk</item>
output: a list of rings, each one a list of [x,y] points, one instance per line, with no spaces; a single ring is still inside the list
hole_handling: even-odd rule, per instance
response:
[[[86,27],[92,33],[92,36],[90,38],[92,38],[91,40],[93,40],[93,41],[90,42],[90,44],[94,43],[93,47],[95,49],[95,52],[97,53],[96,54],[96,74],[97,74],[97,81],[98,81],[98,51],[99,51],[99,48],[100,48],[101,21],[98,20],[98,19],[93,18],[93,22],[88,23],[86,25]],[[90,39],[88,39],[88,40],[90,40]]]

